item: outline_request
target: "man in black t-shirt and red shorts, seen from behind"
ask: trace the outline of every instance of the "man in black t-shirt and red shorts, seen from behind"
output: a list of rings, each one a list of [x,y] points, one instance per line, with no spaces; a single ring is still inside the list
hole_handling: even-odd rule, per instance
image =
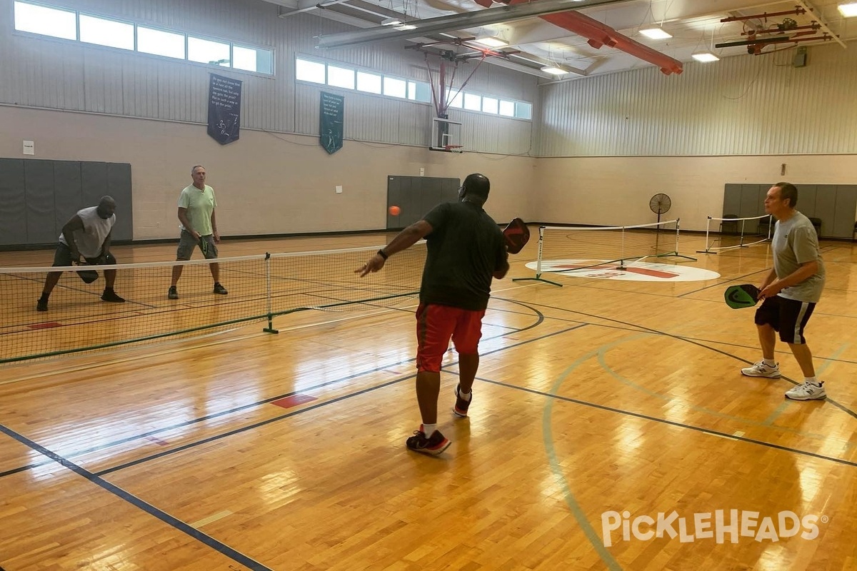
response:
[[[450,444],[437,430],[437,399],[440,362],[451,338],[459,367],[452,412],[467,416],[491,278],[501,279],[509,271],[503,233],[482,210],[490,187],[485,175],[468,175],[458,190],[457,203],[435,206],[356,270],[360,277],[379,271],[394,253],[426,239],[428,254],[417,307],[417,402],[423,424],[406,441],[415,452],[438,455]]]

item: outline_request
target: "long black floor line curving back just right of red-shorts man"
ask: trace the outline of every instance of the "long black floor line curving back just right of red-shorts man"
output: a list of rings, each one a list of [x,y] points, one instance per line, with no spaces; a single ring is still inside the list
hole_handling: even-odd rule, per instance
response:
[[[498,298],[498,299],[500,299],[500,298]],[[508,303],[512,303],[513,305],[521,305],[521,306],[527,307],[528,309],[531,310],[532,313],[536,314],[535,323],[530,324],[530,325],[526,325],[525,327],[522,327],[520,329],[514,329],[512,331],[512,333],[520,333],[520,332],[523,332],[526,330],[534,329],[544,322],[544,315],[542,314],[542,312],[539,312],[535,308],[526,306],[525,304],[521,303],[520,301],[516,301],[516,300],[504,300],[504,301],[506,301]],[[411,313],[410,310],[404,310],[403,309],[401,311],[408,311],[409,313]],[[493,310],[493,311],[508,312],[508,310]],[[516,313],[518,315],[526,315],[525,313],[518,313],[518,312],[516,312]],[[493,326],[494,327],[503,327],[501,325],[493,325]],[[491,340],[491,339],[498,339],[500,337],[507,336],[507,335],[509,335],[508,332],[501,333],[500,335],[497,335],[497,336],[486,337],[485,340],[487,341],[487,340]],[[238,413],[238,412],[241,412],[241,411],[246,410],[248,408],[259,407],[259,406],[267,404],[269,402],[279,401],[280,399],[287,398],[289,396],[295,396],[295,395],[298,395],[301,393],[311,392],[313,390],[318,390],[318,389],[323,389],[324,387],[327,387],[327,386],[330,386],[333,384],[345,383],[347,381],[350,381],[353,378],[364,377],[364,376],[371,374],[371,373],[374,373],[374,372],[381,372],[381,371],[387,370],[392,366],[401,366],[401,365],[405,365],[407,363],[412,363],[416,360],[417,360],[416,358],[411,358],[411,359],[407,359],[407,360],[400,360],[398,363],[391,363],[391,364],[387,364],[387,365],[383,365],[383,366],[377,366],[375,368],[372,368],[372,369],[369,369],[366,371],[356,372],[356,373],[353,373],[351,375],[347,375],[345,377],[336,378],[336,379],[327,381],[326,383],[314,384],[314,385],[309,386],[309,387],[303,387],[300,390],[292,390],[288,393],[283,393],[283,394],[280,394],[277,396],[271,396],[271,397],[268,397],[267,399],[264,399],[261,401],[249,402],[248,404],[242,405],[240,407],[230,408],[228,410],[221,411],[219,413],[207,414],[205,416],[201,416],[201,417],[198,417],[196,419],[191,419],[191,420],[187,420],[184,422],[180,422],[180,423],[177,423],[175,425],[163,426],[163,427],[155,429],[153,431],[143,432],[141,434],[135,434],[134,436],[120,438],[118,440],[114,440],[114,441],[111,441],[109,443],[99,444],[99,446],[93,446],[92,448],[83,449],[83,450],[76,450],[75,452],[67,454],[66,457],[67,458],[76,458],[76,457],[81,456],[81,455],[92,454],[93,452],[99,452],[100,450],[109,449],[109,448],[112,448],[113,446],[118,446],[120,444],[134,442],[135,440],[141,440],[142,438],[152,437],[152,436],[155,436],[157,434],[161,434],[163,432],[174,431],[174,430],[177,430],[179,428],[184,428],[184,427],[189,426],[189,425],[195,425],[195,424],[198,424],[201,422],[205,422],[207,420],[216,419],[216,418],[219,418],[222,416],[227,416],[227,415],[232,414],[232,413]],[[35,462],[33,464],[27,464],[26,466],[12,468],[10,470],[6,470],[5,472],[0,472],[0,479],[2,479],[5,476],[11,476],[11,475],[16,474],[16,473],[26,472],[27,470],[31,470],[33,468],[42,467],[42,466],[45,466],[45,465],[50,464],[50,463],[51,463],[50,461]]]

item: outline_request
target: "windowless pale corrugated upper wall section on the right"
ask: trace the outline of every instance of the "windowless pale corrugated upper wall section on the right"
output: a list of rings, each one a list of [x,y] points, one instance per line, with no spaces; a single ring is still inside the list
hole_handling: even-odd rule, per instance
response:
[[[542,86],[545,157],[857,152],[857,51],[809,48]]]

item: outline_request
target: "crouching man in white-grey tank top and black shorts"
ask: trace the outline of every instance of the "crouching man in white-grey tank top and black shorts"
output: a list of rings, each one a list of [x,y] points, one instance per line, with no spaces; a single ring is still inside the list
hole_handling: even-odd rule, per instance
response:
[[[63,226],[63,233],[59,236],[59,245],[54,253],[53,266],[79,264],[81,257],[86,259],[89,265],[116,264],[116,258],[110,253],[111,231],[116,223],[115,212],[116,201],[110,196],[102,196],[98,206],[77,211]],[[48,273],[42,296],[36,304],[36,311],[48,311],[48,298],[62,275],[62,271]],[[116,270],[105,270],[105,290],[101,294],[101,300],[122,303],[123,298],[113,291],[114,283]]]

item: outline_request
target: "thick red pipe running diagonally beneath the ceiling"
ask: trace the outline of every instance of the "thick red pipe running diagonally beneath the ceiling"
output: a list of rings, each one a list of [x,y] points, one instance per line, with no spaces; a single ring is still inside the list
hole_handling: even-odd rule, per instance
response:
[[[536,0],[532,0],[535,2]],[[530,0],[506,0],[507,4],[526,3]],[[491,6],[492,0],[476,0],[480,6],[488,8]],[[580,12],[561,12],[560,14],[540,15],[544,21],[548,21],[554,26],[564,28],[570,32],[576,33],[587,39],[587,44],[591,45],[596,50],[602,45],[607,45],[611,48],[624,51],[634,57],[638,57],[645,62],[655,64],[661,69],[662,74],[680,74],[684,70],[684,65],[666,54],[650,48],[648,45],[640,44],[626,35],[614,30],[612,27],[602,24],[600,21],[594,20]]]

